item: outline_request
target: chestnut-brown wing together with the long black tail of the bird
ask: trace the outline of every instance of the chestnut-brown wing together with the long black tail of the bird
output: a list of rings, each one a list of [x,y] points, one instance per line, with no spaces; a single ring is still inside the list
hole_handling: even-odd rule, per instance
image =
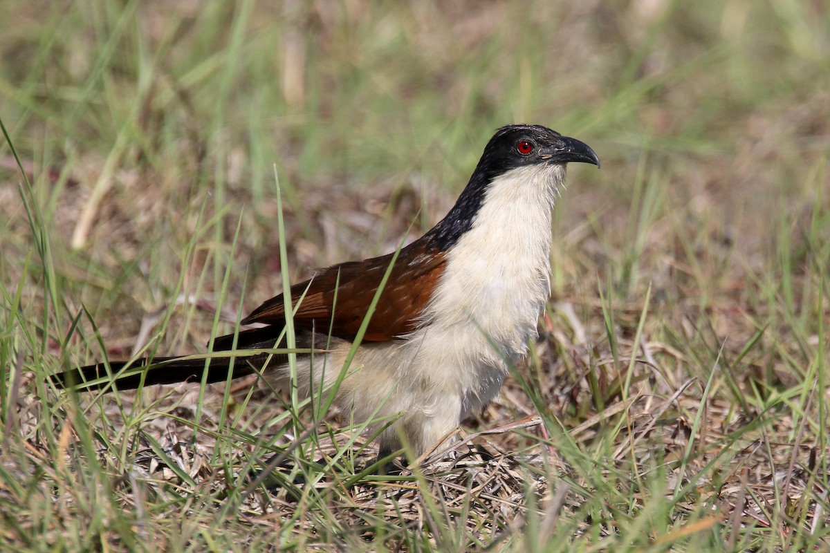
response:
[[[369,260],[338,264],[323,270],[313,279],[291,287],[291,302],[299,302],[294,315],[294,327],[298,331],[298,347],[312,347],[320,337],[339,337],[353,340],[363,323],[374,294],[383,280],[392,255]],[[375,311],[364,334],[364,342],[384,342],[401,337],[415,329],[418,318],[427,306],[432,291],[438,284],[446,264],[445,255],[427,250],[422,240],[417,240],[401,250],[392,268],[387,284],[378,298]],[[305,294],[305,295],[304,295]],[[300,298],[302,298],[300,300]],[[236,349],[267,349],[277,347],[276,339],[285,327],[286,317],[282,295],[271,298],[256,308],[242,324],[266,324],[237,332]],[[303,342],[303,344],[300,344]],[[308,342],[308,343],[305,343]],[[315,346],[316,347],[316,346]],[[325,347],[325,346],[320,346]],[[212,350],[222,352],[234,349],[234,334],[217,337]],[[266,361],[280,364],[285,356],[269,357],[260,354],[237,359],[234,376],[242,376],[262,366]],[[242,362],[240,362],[242,361]],[[160,364],[157,364],[160,363]],[[134,361],[134,366],[148,365],[148,359]],[[126,366],[126,361],[110,363],[113,371]],[[199,381],[205,370],[203,359],[187,360],[177,357],[156,357],[153,365],[143,374],[122,376],[118,387],[122,390],[145,385],[172,384],[187,380]],[[230,358],[211,359],[207,364],[207,381],[222,381],[230,370]],[[82,385],[108,375],[104,363],[82,366],[52,376],[58,386]],[[101,388],[97,385],[83,386]]]

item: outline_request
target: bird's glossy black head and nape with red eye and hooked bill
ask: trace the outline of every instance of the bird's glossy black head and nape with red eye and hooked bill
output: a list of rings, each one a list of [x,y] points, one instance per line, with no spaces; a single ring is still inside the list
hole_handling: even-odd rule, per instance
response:
[[[542,125],[507,125],[496,131],[481,154],[464,192],[447,216],[423,236],[438,250],[448,250],[470,230],[487,186],[512,169],[539,163],[593,163],[599,158],[588,144]]]

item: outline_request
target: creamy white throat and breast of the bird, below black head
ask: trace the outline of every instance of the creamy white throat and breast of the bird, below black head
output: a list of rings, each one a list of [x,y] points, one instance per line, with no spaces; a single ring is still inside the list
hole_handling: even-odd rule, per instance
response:
[[[537,336],[550,293],[550,225],[564,166],[521,167],[496,178],[473,226],[447,257],[422,326],[413,371],[457,390],[461,416],[491,400]]]

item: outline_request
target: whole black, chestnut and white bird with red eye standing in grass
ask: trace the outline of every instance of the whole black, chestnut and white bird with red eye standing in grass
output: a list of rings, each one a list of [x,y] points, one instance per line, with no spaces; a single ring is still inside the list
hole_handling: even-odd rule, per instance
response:
[[[333,408],[369,421],[380,455],[404,445],[415,458],[493,400],[510,364],[538,337],[550,294],[554,203],[568,163],[600,165],[586,143],[542,125],[497,129],[431,230],[393,253],[334,264],[292,285],[295,347],[307,352],[295,361],[298,395],[325,393],[339,381]],[[257,326],[212,344],[212,352],[237,357],[99,362],[51,380],[74,390],[123,390],[225,381],[232,371],[288,390],[288,353],[261,352],[286,347],[286,299],[268,299],[240,324]]]

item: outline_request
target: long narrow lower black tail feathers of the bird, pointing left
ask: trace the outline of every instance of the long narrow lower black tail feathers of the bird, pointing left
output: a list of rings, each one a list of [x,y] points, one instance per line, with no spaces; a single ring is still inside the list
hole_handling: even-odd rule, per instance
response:
[[[205,362],[207,361],[207,369]],[[125,367],[125,374],[117,373]],[[115,387],[119,390],[134,390],[141,386],[155,384],[175,384],[177,382],[201,382],[207,370],[207,382],[219,382],[227,379],[231,370],[230,357],[216,357],[206,359],[188,359],[183,357],[154,357],[136,361],[111,361],[110,371],[105,363],[81,366],[71,371],[64,371],[51,376],[56,386],[61,388],[76,388],[79,390],[101,390],[112,386],[115,377]],[[254,372],[253,366],[244,358],[237,358],[233,366],[233,377],[249,375]]]

